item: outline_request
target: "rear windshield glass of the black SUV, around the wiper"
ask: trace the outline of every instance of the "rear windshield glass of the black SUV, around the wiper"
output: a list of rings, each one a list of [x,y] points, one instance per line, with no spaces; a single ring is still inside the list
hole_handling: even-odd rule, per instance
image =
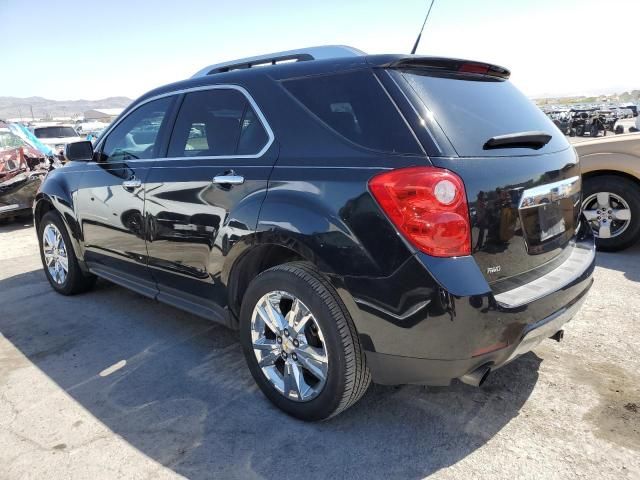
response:
[[[461,157],[540,155],[564,150],[566,138],[551,120],[509,81],[478,77],[400,73],[415,90]],[[539,150],[484,150],[496,135],[542,131],[552,135]]]

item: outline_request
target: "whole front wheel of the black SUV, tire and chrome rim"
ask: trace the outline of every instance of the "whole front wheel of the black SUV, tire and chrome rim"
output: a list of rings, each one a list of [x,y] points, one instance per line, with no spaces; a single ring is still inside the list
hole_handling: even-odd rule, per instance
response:
[[[47,232],[47,236],[51,240],[45,240],[45,232]],[[62,295],[75,295],[93,288],[96,283],[96,277],[81,270],[73,250],[71,238],[57,212],[52,210],[42,217],[38,225],[38,241],[44,273],[47,276],[47,280],[49,280],[49,284],[56,292]],[[51,246],[55,247],[53,259],[51,257]],[[64,269],[65,263],[66,271]],[[55,265],[59,268],[56,269]]]

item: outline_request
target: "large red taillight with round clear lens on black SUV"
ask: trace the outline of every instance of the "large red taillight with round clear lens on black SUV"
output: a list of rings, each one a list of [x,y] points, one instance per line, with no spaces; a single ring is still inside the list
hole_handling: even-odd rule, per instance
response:
[[[404,236],[436,257],[471,253],[469,210],[464,184],[435,167],[410,167],[369,180],[369,190]]]

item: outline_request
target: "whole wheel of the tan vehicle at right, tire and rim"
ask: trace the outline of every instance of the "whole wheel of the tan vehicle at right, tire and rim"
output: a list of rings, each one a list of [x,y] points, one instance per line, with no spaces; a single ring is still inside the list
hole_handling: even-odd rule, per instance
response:
[[[615,175],[587,178],[582,208],[599,250],[623,250],[640,238],[640,187],[633,181]]]

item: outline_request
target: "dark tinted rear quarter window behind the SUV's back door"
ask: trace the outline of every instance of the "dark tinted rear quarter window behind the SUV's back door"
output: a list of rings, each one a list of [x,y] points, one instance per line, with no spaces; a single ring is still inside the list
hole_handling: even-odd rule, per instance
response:
[[[299,78],[283,85],[329,128],[358,145],[384,152],[422,153],[370,71]]]

